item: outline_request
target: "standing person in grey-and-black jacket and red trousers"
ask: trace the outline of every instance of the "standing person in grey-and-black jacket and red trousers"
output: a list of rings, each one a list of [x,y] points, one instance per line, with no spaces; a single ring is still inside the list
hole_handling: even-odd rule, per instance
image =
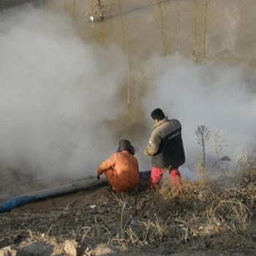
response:
[[[168,120],[165,113],[156,108],[152,111],[154,119],[153,132],[149,138],[144,153],[151,156],[151,178],[149,188],[154,189],[162,178],[165,170],[169,170],[170,179],[174,186],[181,184],[181,174],[178,167],[185,162],[181,124],[176,119]]]

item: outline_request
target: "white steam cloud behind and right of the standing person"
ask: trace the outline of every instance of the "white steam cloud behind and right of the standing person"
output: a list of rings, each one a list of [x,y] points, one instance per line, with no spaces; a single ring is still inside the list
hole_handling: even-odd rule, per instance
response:
[[[195,130],[201,124],[224,136],[226,142],[219,146],[227,147],[219,148],[219,157],[227,155],[233,163],[237,163],[242,149],[256,145],[256,95],[249,90],[249,84],[255,84],[256,77],[248,81],[241,67],[193,64],[178,55],[153,56],[146,70],[155,78],[145,106],[150,110],[162,108],[169,118],[181,121],[187,155],[185,167],[195,170],[200,154]],[[206,154],[213,160],[216,157],[213,140]]]

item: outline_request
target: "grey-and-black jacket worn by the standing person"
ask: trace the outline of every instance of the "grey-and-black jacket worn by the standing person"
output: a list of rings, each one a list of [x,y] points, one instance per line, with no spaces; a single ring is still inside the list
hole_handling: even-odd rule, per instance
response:
[[[154,124],[145,153],[152,156],[152,166],[159,169],[177,168],[185,162],[181,124],[167,116]]]

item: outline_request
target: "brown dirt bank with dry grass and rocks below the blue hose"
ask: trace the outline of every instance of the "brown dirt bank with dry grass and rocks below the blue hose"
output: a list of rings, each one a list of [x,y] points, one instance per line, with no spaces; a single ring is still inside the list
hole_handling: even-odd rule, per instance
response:
[[[208,185],[147,185],[94,188],[1,214],[0,255],[256,255],[255,182],[219,188],[219,197]]]

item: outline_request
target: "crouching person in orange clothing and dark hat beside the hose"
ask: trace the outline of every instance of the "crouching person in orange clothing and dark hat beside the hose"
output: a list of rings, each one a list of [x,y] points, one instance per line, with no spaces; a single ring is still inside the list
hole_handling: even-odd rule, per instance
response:
[[[117,152],[99,165],[97,178],[105,173],[108,183],[118,192],[131,191],[140,182],[135,149],[129,140],[120,140]]]

